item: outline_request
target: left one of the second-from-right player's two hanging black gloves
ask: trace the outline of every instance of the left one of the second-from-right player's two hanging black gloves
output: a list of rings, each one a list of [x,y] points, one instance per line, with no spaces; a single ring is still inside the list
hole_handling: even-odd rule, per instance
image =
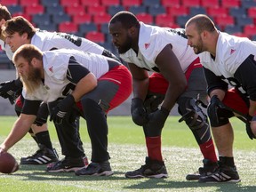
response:
[[[132,114],[132,121],[142,126],[143,124],[147,124],[147,112],[143,105],[143,100],[140,98],[133,98],[132,99],[132,107],[131,107],[131,114]]]

